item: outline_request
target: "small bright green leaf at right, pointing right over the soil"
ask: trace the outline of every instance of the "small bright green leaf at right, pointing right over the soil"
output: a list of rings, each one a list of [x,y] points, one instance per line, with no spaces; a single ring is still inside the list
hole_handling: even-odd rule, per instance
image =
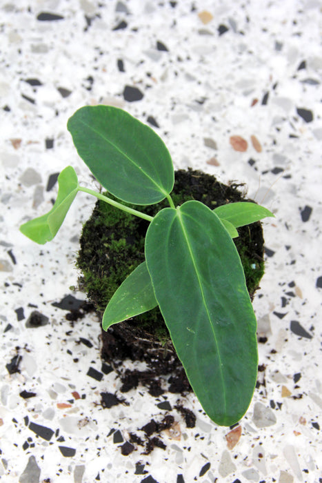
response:
[[[254,221],[259,221],[265,217],[274,217],[273,213],[264,208],[264,206],[250,203],[249,201],[239,201],[218,206],[218,208],[214,208],[214,213],[221,220],[226,219],[230,221],[235,228],[254,223]]]

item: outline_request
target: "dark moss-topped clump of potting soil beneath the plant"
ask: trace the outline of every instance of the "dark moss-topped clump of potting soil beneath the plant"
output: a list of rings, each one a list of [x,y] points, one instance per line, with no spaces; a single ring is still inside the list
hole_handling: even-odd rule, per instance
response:
[[[245,197],[243,185],[221,184],[211,175],[197,170],[178,170],[175,173],[172,199],[178,206],[188,199],[202,201],[216,208],[234,201],[252,201]],[[110,194],[108,195],[109,197]],[[154,216],[166,206],[162,201],[152,206],[133,206]],[[88,299],[100,318],[113,293],[134,268],[144,261],[144,239],[148,221],[128,215],[103,201],[97,201],[92,216],[83,226],[77,266],[81,270],[79,288],[88,293]],[[234,239],[245,271],[251,299],[263,276],[263,230],[256,222],[238,228]],[[165,391],[185,393],[190,384],[172,345],[159,308],[115,324],[101,333],[101,357],[118,371],[126,393],[139,383],[159,397]],[[145,361],[145,371],[123,371],[124,359]]]

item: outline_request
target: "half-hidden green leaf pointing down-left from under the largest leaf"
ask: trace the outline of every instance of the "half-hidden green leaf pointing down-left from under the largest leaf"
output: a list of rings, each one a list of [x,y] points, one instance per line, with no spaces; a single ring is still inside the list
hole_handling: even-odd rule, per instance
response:
[[[150,311],[157,306],[151,278],[143,262],[124,280],[114,293],[103,314],[103,330],[112,324]]]

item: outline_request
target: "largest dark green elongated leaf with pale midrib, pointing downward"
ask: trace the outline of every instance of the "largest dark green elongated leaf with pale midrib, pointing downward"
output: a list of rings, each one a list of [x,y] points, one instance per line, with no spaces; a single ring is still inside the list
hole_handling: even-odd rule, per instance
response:
[[[161,313],[201,406],[217,424],[239,421],[257,373],[256,318],[234,242],[199,201],[164,208],[145,238]]]

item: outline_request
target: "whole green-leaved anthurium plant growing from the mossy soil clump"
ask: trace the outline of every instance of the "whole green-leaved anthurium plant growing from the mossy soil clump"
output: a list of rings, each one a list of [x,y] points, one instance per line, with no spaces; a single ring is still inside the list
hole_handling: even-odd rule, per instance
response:
[[[72,166],[58,177],[49,213],[21,225],[39,244],[57,234],[79,191],[150,221],[145,262],[128,275],[103,314],[103,329],[159,305],[177,355],[201,406],[230,426],[247,411],[257,374],[256,318],[232,238],[237,228],[274,216],[237,202],[211,210],[200,201],[174,206],[174,169],[161,138],[119,108],[85,106],[68,120],[79,156],[107,190],[128,204],[169,207],[151,217],[79,186]]]

